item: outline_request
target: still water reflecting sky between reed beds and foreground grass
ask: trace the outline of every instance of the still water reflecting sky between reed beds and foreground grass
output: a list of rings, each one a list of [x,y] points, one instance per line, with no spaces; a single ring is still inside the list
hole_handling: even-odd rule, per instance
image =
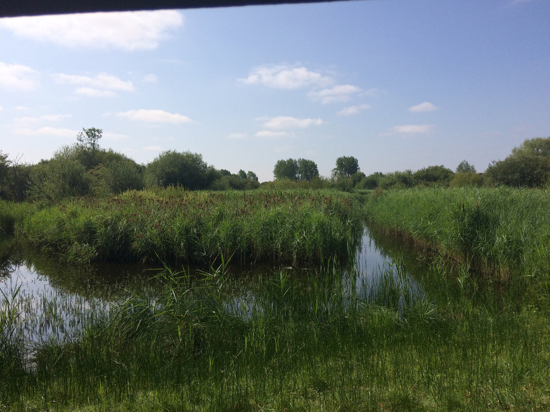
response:
[[[378,302],[390,297],[380,296],[377,285],[393,281],[403,296],[422,294],[420,284],[411,273],[418,270],[411,265],[397,245],[377,241],[365,229],[355,259],[342,272],[342,294],[345,301],[357,304]],[[107,314],[114,303],[132,292],[144,292],[155,300],[154,268],[138,264],[96,264],[89,267],[67,267],[40,253],[21,257],[7,254],[0,262],[0,310],[17,308],[17,322],[30,343],[48,339],[68,341],[78,338],[84,325],[98,314]],[[312,283],[327,283],[331,272],[321,268],[276,268],[255,266],[230,268],[228,279],[234,281],[228,288],[226,307],[244,318],[252,308],[265,305],[259,302],[261,288],[275,285],[283,290],[292,285],[306,288]],[[190,269],[192,276],[204,273]],[[202,273],[202,274],[201,274]],[[223,277],[222,277],[223,278]],[[224,280],[220,278],[220,280]],[[158,286],[158,284],[157,284]],[[405,293],[406,292],[406,293]],[[79,308],[74,310],[74,308]],[[77,315],[75,315],[75,313]]]

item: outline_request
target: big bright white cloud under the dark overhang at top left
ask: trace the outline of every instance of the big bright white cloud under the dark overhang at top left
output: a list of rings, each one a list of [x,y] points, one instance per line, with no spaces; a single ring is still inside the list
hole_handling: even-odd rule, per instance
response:
[[[176,10],[47,15],[0,19],[15,35],[68,47],[152,50],[183,25]]]

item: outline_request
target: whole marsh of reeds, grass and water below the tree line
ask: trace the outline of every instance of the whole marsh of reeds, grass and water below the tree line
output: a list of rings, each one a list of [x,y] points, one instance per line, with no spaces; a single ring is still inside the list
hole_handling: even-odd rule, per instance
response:
[[[547,410],[550,193],[465,166],[223,191],[94,166],[78,196],[31,170],[0,201],[2,408]]]

